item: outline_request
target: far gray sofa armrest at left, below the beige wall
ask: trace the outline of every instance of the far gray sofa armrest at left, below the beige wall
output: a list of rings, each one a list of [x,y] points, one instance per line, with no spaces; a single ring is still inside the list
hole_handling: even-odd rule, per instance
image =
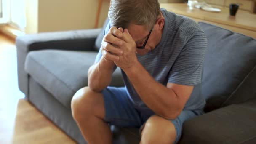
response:
[[[16,38],[17,67],[19,89],[29,96],[29,75],[24,70],[24,63],[29,51],[42,49],[61,49],[92,51],[97,35],[101,29],[86,29],[67,32],[45,32],[28,34]]]

